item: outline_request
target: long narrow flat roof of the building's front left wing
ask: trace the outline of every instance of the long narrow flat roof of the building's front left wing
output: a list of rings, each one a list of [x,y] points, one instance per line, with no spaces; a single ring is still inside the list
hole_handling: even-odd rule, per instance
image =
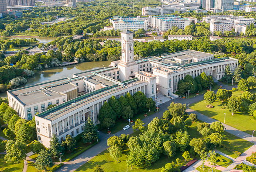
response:
[[[38,114],[37,116],[53,121],[54,119],[57,119],[71,111],[74,111],[79,107],[83,107],[88,103],[94,102],[97,99],[104,98],[108,95],[112,95],[113,93],[121,91],[125,88],[132,87],[137,84],[145,83],[145,81],[140,81],[138,78],[134,78],[131,80],[124,81],[123,83],[124,83],[124,87],[120,85],[112,85],[110,87],[105,87],[105,88],[87,93],[85,95],[79,96],[75,99],[69,100],[68,102],[60,104],[53,108],[50,108],[49,110],[46,110]]]

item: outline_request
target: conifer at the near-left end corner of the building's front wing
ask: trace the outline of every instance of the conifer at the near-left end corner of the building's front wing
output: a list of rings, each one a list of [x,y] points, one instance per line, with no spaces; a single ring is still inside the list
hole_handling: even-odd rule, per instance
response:
[[[53,134],[53,137],[50,139],[50,155],[58,157],[60,153],[64,154],[64,147],[61,146],[59,138]]]

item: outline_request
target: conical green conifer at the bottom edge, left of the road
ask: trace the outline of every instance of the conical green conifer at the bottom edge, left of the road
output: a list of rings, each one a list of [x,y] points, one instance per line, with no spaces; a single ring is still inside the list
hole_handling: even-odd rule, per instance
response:
[[[35,161],[35,168],[37,170],[46,171],[47,167],[52,167],[54,164],[52,162],[52,157],[47,150],[40,150],[37,160]]]

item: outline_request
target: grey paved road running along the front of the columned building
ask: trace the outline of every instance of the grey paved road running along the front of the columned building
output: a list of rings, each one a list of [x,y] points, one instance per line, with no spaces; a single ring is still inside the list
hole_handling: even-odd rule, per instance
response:
[[[217,82],[218,85],[220,85],[220,82]],[[233,86],[236,87],[236,86]],[[227,85],[223,85],[222,88],[224,89],[232,89],[232,86],[227,86]],[[215,93],[217,92],[214,91]],[[195,102],[198,102],[200,100],[203,100],[203,95],[199,95],[196,96],[194,98],[190,98],[190,99],[181,99],[181,98],[177,98],[177,99],[173,99],[169,102],[164,102],[161,104],[158,103],[158,107],[160,109],[160,112],[157,112],[153,115],[148,116],[147,118],[143,119],[143,122],[145,123],[145,126],[148,125],[148,123],[150,123],[154,118],[158,117],[158,118],[162,118],[163,116],[163,112],[165,110],[167,110],[167,107],[170,106],[171,102],[175,102],[175,103],[182,103],[182,104],[192,104]],[[208,118],[208,117],[207,117]],[[134,124],[133,124],[134,125]],[[84,163],[86,163],[87,161],[91,160],[93,157],[97,156],[99,153],[103,152],[103,150],[108,148],[107,145],[107,139],[113,135],[116,136],[120,136],[121,134],[132,134],[133,130],[132,127],[128,130],[121,130],[118,131],[116,134],[105,134],[103,132],[99,132],[100,138],[101,138],[101,142],[95,146],[93,146],[92,148],[88,149],[87,151],[85,151],[84,153],[80,154],[79,156],[77,156],[76,158],[74,158],[73,160],[65,163],[65,165],[63,165],[62,167],[60,167],[59,169],[56,170],[56,172],[73,172],[76,169],[78,169],[81,165],[83,165]],[[256,138],[255,138],[256,139]],[[256,141],[256,140],[255,140]]]

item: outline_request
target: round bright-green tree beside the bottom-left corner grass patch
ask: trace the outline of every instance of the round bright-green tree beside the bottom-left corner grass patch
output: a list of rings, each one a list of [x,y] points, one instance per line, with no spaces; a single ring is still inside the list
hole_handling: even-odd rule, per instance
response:
[[[8,140],[6,144],[6,155],[4,160],[6,163],[19,163],[20,160],[26,160],[26,145],[20,141]]]

